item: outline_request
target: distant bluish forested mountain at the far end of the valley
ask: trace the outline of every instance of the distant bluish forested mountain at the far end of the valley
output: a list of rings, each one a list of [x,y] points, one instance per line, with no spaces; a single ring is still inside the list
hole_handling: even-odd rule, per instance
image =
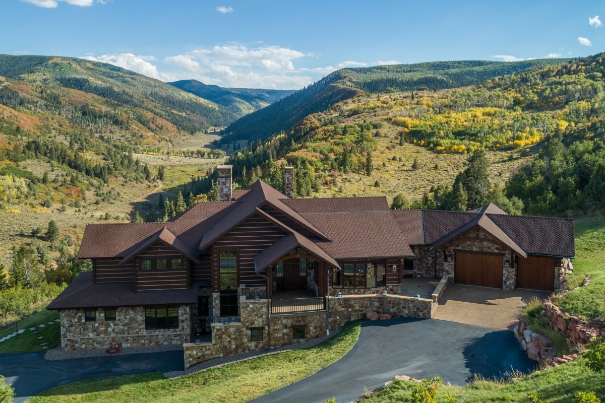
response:
[[[222,88],[217,85],[206,85],[198,80],[180,80],[168,84],[223,105],[238,117],[258,111],[296,92],[286,89]]]

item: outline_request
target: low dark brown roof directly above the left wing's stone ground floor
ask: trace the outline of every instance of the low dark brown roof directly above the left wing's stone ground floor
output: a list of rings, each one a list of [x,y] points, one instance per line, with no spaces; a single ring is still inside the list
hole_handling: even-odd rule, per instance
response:
[[[197,294],[197,286],[187,291],[134,292],[132,283],[93,283],[93,273],[83,272],[47,309],[190,304],[197,302]]]

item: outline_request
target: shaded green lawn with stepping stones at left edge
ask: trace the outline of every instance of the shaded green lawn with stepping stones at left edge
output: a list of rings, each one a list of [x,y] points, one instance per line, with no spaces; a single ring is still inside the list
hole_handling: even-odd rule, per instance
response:
[[[47,311],[43,309],[40,312],[36,312],[27,318],[22,319],[18,323],[19,329],[25,329],[20,335],[5,340],[0,343],[0,353],[19,353],[29,351],[41,351],[45,350],[40,345],[42,336],[47,344],[48,349],[53,348],[59,343],[60,340],[60,326],[59,322],[54,322],[55,319],[59,318],[59,312]],[[49,321],[53,321],[54,324],[48,324]],[[39,324],[44,323],[44,327],[38,327]],[[38,333],[32,332],[29,328],[36,327]],[[16,331],[15,325],[7,327],[0,332],[0,338],[10,335]]]

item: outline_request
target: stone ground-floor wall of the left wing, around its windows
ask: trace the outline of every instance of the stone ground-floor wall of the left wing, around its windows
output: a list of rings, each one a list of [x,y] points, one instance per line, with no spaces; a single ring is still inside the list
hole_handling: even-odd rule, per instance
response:
[[[178,308],[178,329],[145,330],[145,308],[116,308],[116,320],[106,321],[103,309],[97,320],[84,320],[82,309],[60,311],[63,350],[139,347],[188,343],[191,336],[189,306]]]

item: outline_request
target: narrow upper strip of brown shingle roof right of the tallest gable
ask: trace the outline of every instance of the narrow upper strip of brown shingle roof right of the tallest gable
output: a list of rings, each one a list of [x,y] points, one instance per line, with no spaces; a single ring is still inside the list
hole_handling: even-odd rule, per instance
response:
[[[284,199],[282,202],[300,214],[388,210],[388,202],[385,196],[367,198]]]

